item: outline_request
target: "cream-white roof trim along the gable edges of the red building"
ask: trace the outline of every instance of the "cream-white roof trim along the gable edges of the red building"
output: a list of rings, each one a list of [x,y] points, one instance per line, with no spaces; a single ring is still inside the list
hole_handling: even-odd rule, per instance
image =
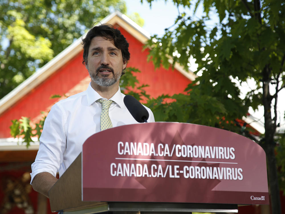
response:
[[[116,19],[119,17],[120,19]],[[112,21],[113,19],[113,21]],[[150,39],[150,34],[147,33],[143,28],[137,25],[134,21],[129,19],[126,15],[123,15],[121,12],[116,11],[104,19],[101,20],[100,23],[111,23],[117,22],[119,25],[131,33],[136,39],[145,43],[148,39]],[[97,23],[99,25],[100,23]],[[82,35],[85,37],[86,34]],[[32,74],[29,78],[27,78],[24,82],[22,82],[19,86],[17,86],[14,90],[12,90],[9,94],[4,96],[0,100],[0,114],[5,112],[8,108],[10,108],[13,104],[15,104],[18,100],[20,100],[23,96],[25,96],[28,92],[30,92],[33,88],[42,83],[48,76],[56,72],[60,67],[62,67],[66,62],[71,60],[74,56],[76,56],[80,51],[82,51],[81,40],[82,37],[77,39],[74,43],[64,49],[61,53],[55,56],[52,60],[50,60],[47,64],[45,64],[42,68]],[[181,72],[184,76],[189,78],[190,80],[194,80],[195,75],[190,71],[186,72],[180,65],[176,64],[174,66],[179,72]]]

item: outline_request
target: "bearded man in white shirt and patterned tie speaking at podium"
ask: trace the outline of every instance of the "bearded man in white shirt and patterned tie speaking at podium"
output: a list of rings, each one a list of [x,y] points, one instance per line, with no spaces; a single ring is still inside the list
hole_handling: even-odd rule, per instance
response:
[[[112,25],[95,26],[82,39],[83,63],[91,82],[86,91],[52,106],[32,164],[31,184],[48,191],[82,151],[84,141],[107,128],[138,123],[126,108],[119,80],[130,59],[129,43]],[[148,122],[154,122],[149,108]],[[104,142],[94,142],[104,143]]]

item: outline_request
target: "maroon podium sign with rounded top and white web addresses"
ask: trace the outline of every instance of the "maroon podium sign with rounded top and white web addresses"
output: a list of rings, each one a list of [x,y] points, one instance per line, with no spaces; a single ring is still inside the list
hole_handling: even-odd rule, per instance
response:
[[[82,200],[269,204],[265,152],[208,126],[111,128],[83,144]]]

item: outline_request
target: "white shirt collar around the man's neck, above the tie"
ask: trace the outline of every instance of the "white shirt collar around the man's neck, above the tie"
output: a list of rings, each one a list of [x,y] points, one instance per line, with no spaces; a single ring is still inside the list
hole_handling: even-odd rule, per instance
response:
[[[97,91],[92,88],[91,83],[89,83],[89,86],[86,90],[86,96],[88,106],[91,106],[96,100],[103,98],[98,94]],[[120,108],[124,106],[123,94],[121,93],[120,86],[118,91],[110,98],[110,100],[113,100],[116,104],[119,105]]]

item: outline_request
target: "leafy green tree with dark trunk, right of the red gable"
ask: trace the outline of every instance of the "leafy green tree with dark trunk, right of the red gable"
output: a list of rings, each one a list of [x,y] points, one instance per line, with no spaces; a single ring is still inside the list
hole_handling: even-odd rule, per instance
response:
[[[153,2],[146,1],[150,5]],[[186,95],[171,97],[176,102],[163,102],[168,96],[150,100],[156,119],[227,129],[262,146],[267,156],[272,213],[281,213],[279,185],[284,189],[284,133],[276,130],[280,126],[278,95],[285,87],[284,1],[173,2],[184,8],[193,3],[195,9],[201,3],[205,15],[196,19],[181,13],[163,36],[154,35],[149,40],[149,59],[156,67],[160,63],[168,67],[171,58],[173,64],[179,62],[187,69],[192,56],[198,64],[197,78],[186,88]],[[212,29],[206,26],[210,12],[219,17],[219,23]],[[250,88],[245,96],[244,85]],[[237,119],[246,117],[249,108],[257,110],[259,106],[264,108],[265,133],[253,136],[247,124]],[[283,174],[279,184],[278,172]]]

